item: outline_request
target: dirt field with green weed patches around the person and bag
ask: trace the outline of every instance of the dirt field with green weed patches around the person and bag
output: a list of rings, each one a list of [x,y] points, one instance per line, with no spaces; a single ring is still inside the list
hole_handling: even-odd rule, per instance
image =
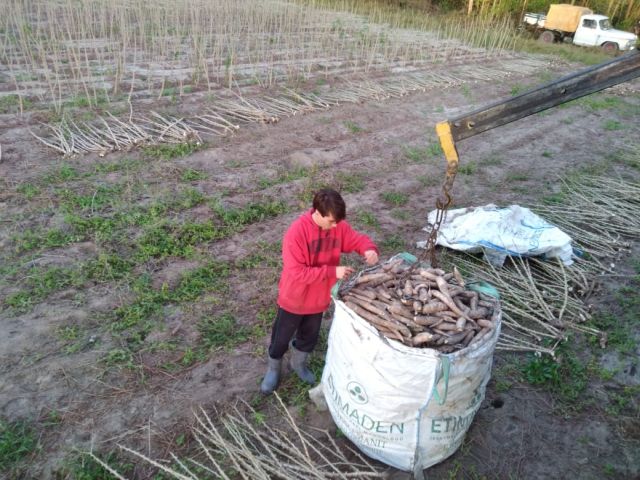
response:
[[[246,126],[195,151],[62,158],[29,135],[38,113],[0,116],[0,416],[25,422],[38,444],[0,475],[80,478],[89,467],[74,449],[107,456],[116,443],[156,458],[187,455],[194,407],[240,398],[272,411],[257,392],[279,242],[311,192],[341,188],[349,219],[384,258],[415,252],[444,169],[435,123],[576,67],[535,59],[540,68],[529,68],[533,61],[501,60],[514,72],[501,81]],[[184,115],[203,98],[167,108]],[[466,140],[455,205],[533,204],[580,169],[637,181],[638,161],[617,152],[639,146],[639,114],[636,81]],[[638,303],[618,296],[638,287],[638,248],[590,299],[594,311],[635,318],[632,345],[600,350],[571,336],[561,369],[549,368],[576,398],[546,377],[527,380],[535,357],[497,353],[468,439],[427,478],[640,478]],[[335,429],[293,379],[282,392],[302,424]],[[150,478],[121,453],[109,458]]]

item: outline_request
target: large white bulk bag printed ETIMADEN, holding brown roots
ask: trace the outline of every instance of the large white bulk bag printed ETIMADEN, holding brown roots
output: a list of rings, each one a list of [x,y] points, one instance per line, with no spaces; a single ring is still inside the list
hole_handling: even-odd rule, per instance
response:
[[[496,328],[451,354],[412,348],[382,336],[335,299],[322,374],[340,430],[366,455],[418,472],[453,454],[484,399]]]

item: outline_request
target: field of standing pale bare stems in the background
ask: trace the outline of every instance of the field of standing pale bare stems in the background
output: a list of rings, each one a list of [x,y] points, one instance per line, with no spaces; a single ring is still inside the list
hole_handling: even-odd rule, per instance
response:
[[[314,2],[16,1],[8,7],[0,29],[2,94],[38,97],[56,108],[76,97],[93,105],[481,62],[507,54],[512,42],[506,29],[489,30],[483,20],[404,30]]]

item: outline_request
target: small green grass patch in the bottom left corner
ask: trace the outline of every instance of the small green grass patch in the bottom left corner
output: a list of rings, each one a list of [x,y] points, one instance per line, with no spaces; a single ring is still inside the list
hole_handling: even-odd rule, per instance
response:
[[[17,472],[19,465],[37,449],[38,438],[28,422],[8,421],[0,417],[0,473],[7,473],[9,478],[13,477],[12,473]]]

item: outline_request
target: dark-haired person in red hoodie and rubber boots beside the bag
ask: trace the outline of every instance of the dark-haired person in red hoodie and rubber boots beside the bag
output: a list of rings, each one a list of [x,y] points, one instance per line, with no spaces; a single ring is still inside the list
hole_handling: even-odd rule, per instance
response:
[[[358,252],[369,265],[378,262],[378,248],[344,219],[346,206],[338,192],[320,190],[313,208],[295,220],[282,241],[282,275],[278,285],[278,313],[271,331],[269,367],[260,390],[271,393],[280,382],[282,357],[291,343],[290,365],[298,376],[314,384],[307,358],[318,342],[322,314],[331,302],[331,288],[353,269],[339,266],[340,254]]]

